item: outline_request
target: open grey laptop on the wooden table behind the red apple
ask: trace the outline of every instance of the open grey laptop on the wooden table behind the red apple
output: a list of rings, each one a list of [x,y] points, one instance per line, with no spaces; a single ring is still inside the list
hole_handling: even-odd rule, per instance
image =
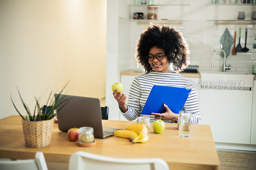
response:
[[[55,94],[55,99],[58,94]],[[59,105],[57,110],[58,125],[60,131],[67,132],[70,128],[84,126],[92,127],[96,138],[107,138],[118,130],[110,127],[102,127],[100,99],[80,96],[62,95],[61,99],[69,99]],[[59,111],[58,111],[59,110]]]

